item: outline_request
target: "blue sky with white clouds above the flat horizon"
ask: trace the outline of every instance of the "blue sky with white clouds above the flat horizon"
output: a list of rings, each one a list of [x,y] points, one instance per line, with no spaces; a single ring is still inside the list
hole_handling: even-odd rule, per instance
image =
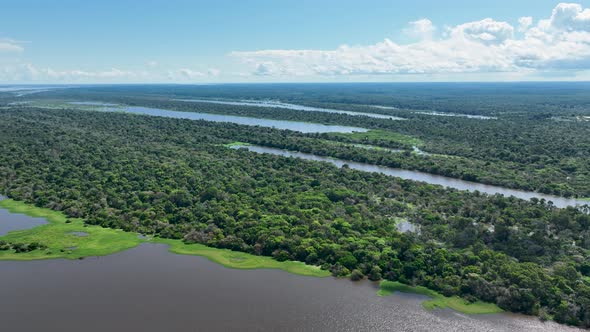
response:
[[[0,84],[590,80],[590,0],[0,0]]]

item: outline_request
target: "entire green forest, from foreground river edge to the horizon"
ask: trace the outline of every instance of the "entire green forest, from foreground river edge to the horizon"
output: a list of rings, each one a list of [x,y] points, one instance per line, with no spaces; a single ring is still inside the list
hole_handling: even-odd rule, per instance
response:
[[[253,93],[248,89],[263,88],[228,87],[235,98]],[[396,93],[405,91],[389,87],[393,88]],[[218,97],[231,98],[220,87],[154,87],[157,94],[151,94],[150,87],[135,86],[39,93],[32,98],[61,96],[355,125],[419,139],[427,152],[455,157],[413,154],[407,138],[404,143],[399,137],[373,144],[354,136],[14,105],[0,110],[0,194],[62,211],[88,225],[198,244],[185,247],[190,248],[187,253],[204,253],[207,250],[200,247],[204,245],[279,262],[305,262],[336,276],[398,281],[448,298],[494,303],[507,311],[589,327],[588,207],[558,209],[543,200],[460,192],[223,147],[247,142],[588,197],[590,127],[587,122],[551,120],[557,113],[584,114],[590,105],[587,91],[554,91],[546,97],[537,93],[541,88],[512,96],[517,93],[494,87],[489,95],[494,98],[483,92],[456,98],[430,88],[436,98],[423,102],[422,92],[415,91],[415,98],[396,94],[394,99],[379,86],[370,91],[301,88],[309,95],[295,93],[297,89],[291,93],[268,88],[281,95],[277,99],[312,106],[366,110],[354,104],[383,102],[424,109],[417,106],[429,103],[437,111],[498,117],[489,121],[375,110],[405,112],[399,115],[408,119],[392,121],[169,100],[213,93],[209,89],[223,90]],[[272,93],[268,98],[273,98]],[[354,146],[368,143],[404,152]],[[400,233],[396,227],[400,219],[418,226],[420,232]],[[14,243],[26,244],[27,250],[33,243],[45,245],[35,239]],[[223,259],[219,255],[212,259],[232,262],[231,255]],[[234,263],[243,263],[235,257]]]

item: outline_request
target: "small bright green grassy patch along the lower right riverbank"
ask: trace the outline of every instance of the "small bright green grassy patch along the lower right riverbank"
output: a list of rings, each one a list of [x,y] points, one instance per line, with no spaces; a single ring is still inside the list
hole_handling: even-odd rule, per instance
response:
[[[410,286],[397,281],[384,280],[379,284],[379,296],[387,296],[393,292],[415,293],[431,297],[431,300],[424,301],[422,305],[428,310],[451,308],[464,314],[493,314],[502,312],[497,305],[481,301],[467,302],[457,296],[448,297],[422,286]]]

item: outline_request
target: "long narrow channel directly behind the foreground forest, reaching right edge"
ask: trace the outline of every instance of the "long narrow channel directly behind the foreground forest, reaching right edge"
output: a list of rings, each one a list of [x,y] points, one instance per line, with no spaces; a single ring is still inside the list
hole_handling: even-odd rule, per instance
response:
[[[328,162],[328,163],[334,164],[338,167],[342,167],[343,165],[348,165],[350,168],[360,170],[360,171],[377,172],[377,173],[382,173],[385,175],[396,176],[396,177],[399,177],[402,179],[422,181],[422,182],[427,182],[427,183],[431,183],[431,184],[438,184],[438,185],[441,185],[444,187],[455,188],[455,189],[459,189],[459,190],[479,191],[479,192],[490,194],[490,195],[501,194],[504,196],[514,196],[514,197],[525,199],[525,200],[529,200],[533,197],[537,197],[539,199],[544,198],[547,201],[552,201],[556,207],[560,207],[560,208],[564,208],[567,206],[577,206],[577,205],[590,204],[589,201],[584,201],[584,200],[578,200],[578,199],[573,199],[573,198],[565,198],[565,197],[559,197],[559,196],[554,196],[554,195],[540,194],[540,193],[536,193],[536,192],[529,192],[529,191],[522,191],[522,190],[516,190],[516,189],[491,186],[491,185],[477,183],[477,182],[470,182],[470,181],[449,178],[449,177],[441,176],[441,175],[434,175],[434,174],[429,174],[429,173],[424,173],[424,172],[419,172],[419,171],[404,170],[404,169],[399,169],[399,168],[391,168],[391,167],[386,167],[386,166],[377,166],[377,165],[359,163],[359,162],[354,162],[354,161],[340,160],[340,159],[335,159],[335,158],[330,158],[330,157],[318,156],[318,155],[314,155],[314,154],[310,154],[310,153],[287,151],[287,150],[282,150],[282,149],[268,148],[268,147],[255,146],[255,145],[233,146],[232,148],[234,148],[234,149],[246,148],[250,151],[258,152],[258,153],[270,153],[270,154],[280,155],[280,156],[285,156],[285,157],[295,157],[295,158],[302,158],[302,159],[307,159],[307,160],[323,161],[323,162]]]

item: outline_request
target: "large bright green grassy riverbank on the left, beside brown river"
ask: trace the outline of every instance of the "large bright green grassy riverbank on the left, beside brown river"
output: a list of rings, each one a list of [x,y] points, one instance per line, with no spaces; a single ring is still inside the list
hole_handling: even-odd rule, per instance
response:
[[[182,255],[202,256],[212,262],[233,269],[279,269],[290,273],[327,277],[328,271],[302,262],[279,262],[270,257],[255,256],[228,249],[217,249],[201,244],[185,244],[181,240],[140,238],[140,235],[122,230],[85,225],[82,219],[67,218],[63,213],[39,208],[11,199],[1,200],[0,208],[11,213],[30,217],[45,218],[47,224],[27,230],[13,231],[0,240],[10,243],[37,242],[45,246],[25,253],[14,250],[0,251],[0,260],[39,260],[39,259],[81,259],[89,256],[106,256],[128,250],[141,243],[164,243],[169,251]],[[83,234],[83,236],[80,236]]]

